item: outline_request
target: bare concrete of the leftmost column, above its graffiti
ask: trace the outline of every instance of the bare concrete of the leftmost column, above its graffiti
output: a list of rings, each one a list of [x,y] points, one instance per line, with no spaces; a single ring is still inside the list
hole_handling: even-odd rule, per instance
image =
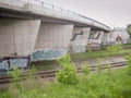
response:
[[[0,57],[31,54],[39,25],[40,21],[0,19]]]

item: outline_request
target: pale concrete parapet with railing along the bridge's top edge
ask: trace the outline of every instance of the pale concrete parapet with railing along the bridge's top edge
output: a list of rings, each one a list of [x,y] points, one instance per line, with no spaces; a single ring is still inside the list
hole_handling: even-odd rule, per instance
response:
[[[70,14],[70,15],[76,15],[76,16],[80,16],[80,17],[83,17],[84,20],[87,21],[87,23],[92,24],[93,26],[97,26],[97,27],[100,27],[100,28],[104,28],[104,29],[110,29],[109,26],[98,22],[98,21],[95,21],[95,20],[92,20],[90,17],[86,17],[84,15],[81,15],[79,13],[75,13],[73,11],[70,11],[70,10],[67,10],[67,9],[63,9],[63,8],[60,8],[60,7],[57,7],[57,5],[53,5],[53,4],[50,4],[50,3],[47,3],[43,0],[20,0],[20,1],[24,1],[24,2],[27,2],[27,3],[33,3],[33,4],[38,4],[40,7],[44,7],[44,8],[49,8],[49,9],[52,9],[52,10],[56,10],[56,11],[60,11],[60,12],[63,12],[63,13],[67,13],[67,14]]]

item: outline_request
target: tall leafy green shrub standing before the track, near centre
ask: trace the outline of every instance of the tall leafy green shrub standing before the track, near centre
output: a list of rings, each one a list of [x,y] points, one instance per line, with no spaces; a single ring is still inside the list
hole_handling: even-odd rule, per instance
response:
[[[63,84],[76,84],[76,69],[71,63],[71,58],[69,54],[59,59],[58,62],[62,66],[62,70],[57,73],[57,79]]]

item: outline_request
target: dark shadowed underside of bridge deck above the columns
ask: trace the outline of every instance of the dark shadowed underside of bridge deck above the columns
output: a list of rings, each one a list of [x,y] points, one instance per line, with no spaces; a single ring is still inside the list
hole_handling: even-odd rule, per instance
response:
[[[73,21],[55,19],[55,17],[44,16],[44,15],[39,15],[39,14],[33,14],[33,13],[28,13],[28,12],[8,11],[5,9],[0,9],[0,19],[9,19],[9,17],[10,19],[20,19],[20,20],[40,20],[45,23],[57,23],[57,24],[68,24],[68,25],[71,24],[71,25],[74,25],[75,27],[90,27],[92,30],[108,32],[108,30],[102,29],[102,28],[93,26],[93,25],[76,23]]]

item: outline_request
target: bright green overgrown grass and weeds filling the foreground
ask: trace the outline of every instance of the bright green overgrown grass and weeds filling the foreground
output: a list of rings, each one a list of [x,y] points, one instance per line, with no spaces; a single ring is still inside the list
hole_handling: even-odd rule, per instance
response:
[[[66,68],[70,64],[64,62],[67,59],[61,62]],[[27,81],[17,83],[16,79],[9,89],[1,91],[0,98],[131,98],[130,68],[118,70],[112,70],[110,65],[107,68],[107,71],[102,71],[98,66],[96,72],[90,72],[88,66],[84,65],[83,73],[78,74],[78,82],[73,85],[61,81],[48,83],[46,79],[35,79],[32,77],[33,70]],[[63,70],[66,73],[69,71]],[[61,79],[67,76],[64,72]],[[70,74],[74,74],[72,72],[74,70],[70,69]],[[68,78],[74,79],[70,76]]]

